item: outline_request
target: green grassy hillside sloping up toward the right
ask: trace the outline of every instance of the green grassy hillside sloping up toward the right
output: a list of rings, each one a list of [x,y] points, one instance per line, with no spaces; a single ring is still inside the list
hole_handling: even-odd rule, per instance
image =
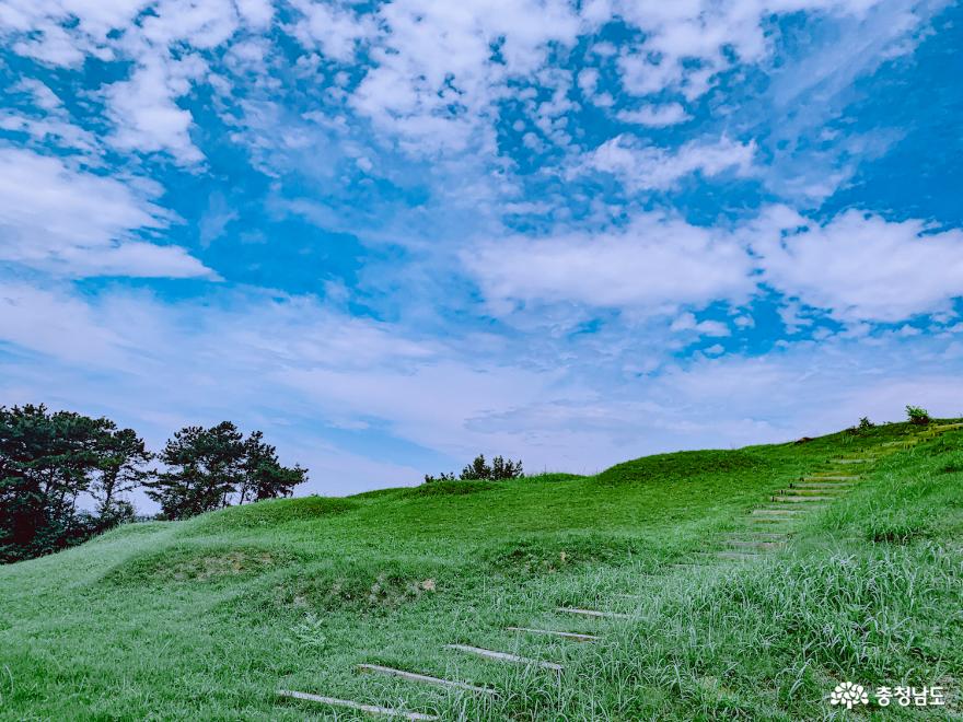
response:
[[[887,424],[128,525],[0,568],[0,717],[359,714],[289,689],[442,719],[799,720],[838,713],[842,680],[942,685],[947,707],[875,713],[959,717],[961,481],[963,430]]]

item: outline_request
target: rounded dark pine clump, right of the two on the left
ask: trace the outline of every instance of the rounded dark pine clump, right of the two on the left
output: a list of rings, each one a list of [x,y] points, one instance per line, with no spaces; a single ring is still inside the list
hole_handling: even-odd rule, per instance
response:
[[[235,501],[290,497],[306,480],[306,469],[286,468],[260,431],[246,440],[230,421],[185,427],[167,441],[159,458],[167,470],[144,482],[164,519],[188,519]]]

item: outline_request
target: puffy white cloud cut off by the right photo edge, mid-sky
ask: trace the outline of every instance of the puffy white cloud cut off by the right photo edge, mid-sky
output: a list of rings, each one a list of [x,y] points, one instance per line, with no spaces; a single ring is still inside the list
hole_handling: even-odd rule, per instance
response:
[[[855,210],[824,225],[785,210],[763,223],[765,281],[838,319],[896,322],[963,296],[963,231]]]

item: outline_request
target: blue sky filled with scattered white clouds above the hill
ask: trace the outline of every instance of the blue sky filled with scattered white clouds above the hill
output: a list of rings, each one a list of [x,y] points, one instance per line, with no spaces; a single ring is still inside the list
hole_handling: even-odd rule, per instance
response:
[[[963,9],[7,0],[0,403],[305,491],[963,414]]]

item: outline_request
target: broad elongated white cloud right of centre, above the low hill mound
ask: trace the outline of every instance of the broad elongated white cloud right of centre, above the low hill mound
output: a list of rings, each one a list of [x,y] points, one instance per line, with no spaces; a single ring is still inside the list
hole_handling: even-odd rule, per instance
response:
[[[463,260],[501,313],[525,303],[661,313],[742,300],[754,286],[751,259],[731,238],[657,214],[594,235],[489,242]]]

